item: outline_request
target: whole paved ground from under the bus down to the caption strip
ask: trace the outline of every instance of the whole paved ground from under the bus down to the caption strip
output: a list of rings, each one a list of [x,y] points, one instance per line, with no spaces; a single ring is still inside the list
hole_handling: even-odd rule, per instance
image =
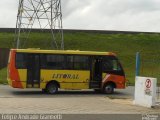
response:
[[[113,95],[88,91],[60,91],[46,95],[41,90],[13,89],[0,86],[0,113],[62,113],[62,114],[146,114],[160,113],[152,109],[134,106],[134,87],[116,90]]]

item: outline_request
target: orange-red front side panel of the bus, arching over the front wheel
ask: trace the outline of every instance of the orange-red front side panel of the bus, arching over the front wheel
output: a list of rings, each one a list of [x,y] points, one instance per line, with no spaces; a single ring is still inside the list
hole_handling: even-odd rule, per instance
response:
[[[125,86],[125,82],[126,82],[125,76],[103,73],[102,87],[107,82],[115,83],[117,89],[125,89],[126,87]]]

